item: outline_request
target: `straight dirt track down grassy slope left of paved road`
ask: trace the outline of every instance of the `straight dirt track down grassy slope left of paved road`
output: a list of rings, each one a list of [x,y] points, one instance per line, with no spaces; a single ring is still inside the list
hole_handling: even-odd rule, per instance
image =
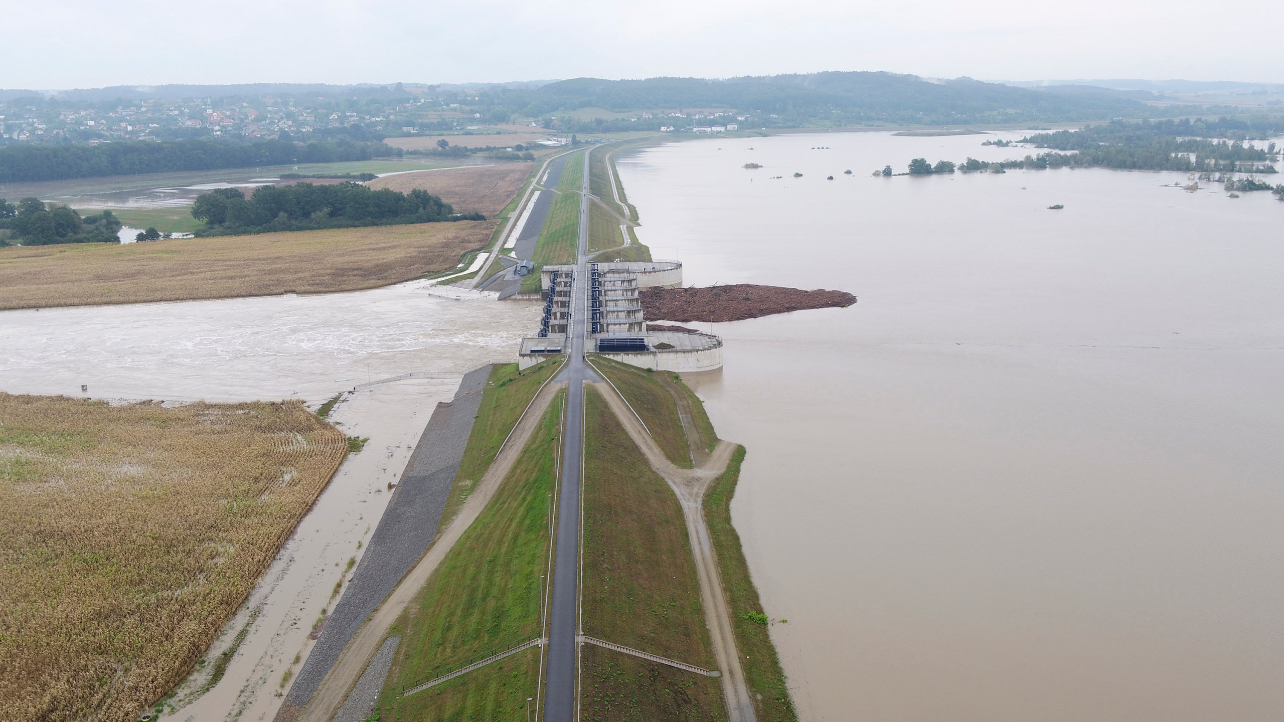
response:
[[[487,371],[489,373],[489,367]],[[315,691],[311,692],[311,699],[306,699],[299,705],[282,707],[281,713],[276,717],[279,722],[326,722],[330,719],[331,713],[343,703],[348,690],[352,689],[366,668],[366,662],[374,655],[380,642],[383,642],[389,627],[392,627],[406,605],[415,597],[420,587],[428,582],[433,570],[437,569],[437,565],[440,564],[446,554],[455,546],[455,542],[460,540],[469,525],[473,524],[487,504],[489,504],[490,497],[494,496],[503,478],[508,475],[508,470],[517,460],[521,450],[525,448],[532,432],[538,425],[539,419],[543,418],[544,411],[547,411],[550,402],[560,388],[559,384],[550,383],[535,396],[530,403],[530,409],[512,430],[512,437],[499,451],[499,455],[496,456],[494,461],[490,462],[482,479],[478,480],[473,493],[469,495],[467,501],[460,507],[455,519],[442,531],[422,559],[410,569],[404,578],[401,579],[401,583],[383,600],[383,604],[374,610],[374,614],[366,619],[365,624],[357,630],[356,635],[352,636],[352,640],[339,655],[338,662],[330,667],[329,673],[325,674],[318,685],[313,685]],[[480,397],[480,393],[476,396]],[[469,419],[471,420],[475,414],[475,410],[471,411]],[[465,434],[465,445],[466,439],[467,434]],[[430,523],[429,520],[420,520],[419,523],[433,529],[437,527],[439,516],[440,513]],[[294,691],[293,687],[290,691]]]

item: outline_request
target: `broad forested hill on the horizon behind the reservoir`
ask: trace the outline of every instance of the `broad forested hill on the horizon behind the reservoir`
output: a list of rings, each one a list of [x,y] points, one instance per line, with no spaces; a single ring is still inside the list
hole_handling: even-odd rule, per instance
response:
[[[727,108],[754,114],[756,126],[978,123],[1149,117],[1157,108],[1102,90],[1048,92],[972,78],[930,82],[886,72],[826,72],[727,80],[659,77],[575,78],[510,90],[501,103],[529,117],[577,108],[614,112]],[[759,122],[760,114],[769,122]],[[1165,113],[1166,114],[1166,113]],[[772,118],[770,116],[777,116]]]

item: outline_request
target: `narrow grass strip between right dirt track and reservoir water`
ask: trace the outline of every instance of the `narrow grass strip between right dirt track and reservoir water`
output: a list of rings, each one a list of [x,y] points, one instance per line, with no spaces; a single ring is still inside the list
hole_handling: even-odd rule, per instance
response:
[[[749,696],[754,700],[759,722],[795,722],[797,714],[790,698],[785,672],[781,669],[776,646],[763,621],[763,605],[758,590],[749,574],[749,564],[740,546],[740,534],[731,524],[731,500],[740,479],[740,466],[745,460],[745,447],[738,447],[723,475],[714,480],[705,495],[705,520],[714,551],[718,554],[718,568],[722,573],[723,591],[731,604],[736,630],[736,646],[740,650],[745,669],[745,682]]]

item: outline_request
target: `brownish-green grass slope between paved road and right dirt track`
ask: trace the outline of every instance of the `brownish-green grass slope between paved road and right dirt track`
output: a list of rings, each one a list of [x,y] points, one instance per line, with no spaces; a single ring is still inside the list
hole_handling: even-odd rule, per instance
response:
[[[678,498],[592,388],[586,389],[584,428],[584,633],[713,668],[700,583]],[[582,701],[602,694],[647,698],[652,690],[646,674],[632,669],[632,662],[611,656],[628,673],[611,674],[605,662],[586,667],[597,681],[584,685]],[[704,710],[707,714],[702,718],[724,718],[715,680],[687,672],[681,678],[693,682],[679,695],[682,709]]]

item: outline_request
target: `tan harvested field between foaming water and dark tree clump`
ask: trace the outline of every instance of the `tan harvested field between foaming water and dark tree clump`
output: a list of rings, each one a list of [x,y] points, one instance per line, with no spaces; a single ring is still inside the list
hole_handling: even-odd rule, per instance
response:
[[[0,248],[0,308],[358,290],[455,267],[496,221]]]

